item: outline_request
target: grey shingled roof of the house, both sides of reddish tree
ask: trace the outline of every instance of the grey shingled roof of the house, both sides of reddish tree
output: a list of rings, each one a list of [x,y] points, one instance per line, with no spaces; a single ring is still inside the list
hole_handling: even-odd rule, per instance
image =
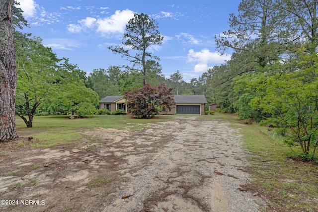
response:
[[[99,101],[99,103],[114,103],[116,100],[123,98],[123,96],[107,96]],[[204,95],[174,95],[174,101],[177,104],[207,104]]]

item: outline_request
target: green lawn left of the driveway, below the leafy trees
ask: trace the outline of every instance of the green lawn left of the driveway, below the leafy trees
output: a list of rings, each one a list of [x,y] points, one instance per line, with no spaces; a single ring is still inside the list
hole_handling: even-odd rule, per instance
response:
[[[94,128],[116,128],[140,130],[147,123],[169,120],[172,116],[135,119],[130,115],[98,115],[92,118],[69,119],[69,116],[35,116],[33,127],[27,128],[20,117],[16,117],[17,132],[20,137],[32,136],[31,147],[50,148],[56,145],[73,144],[83,138],[82,131]],[[2,152],[0,154],[7,154]]]

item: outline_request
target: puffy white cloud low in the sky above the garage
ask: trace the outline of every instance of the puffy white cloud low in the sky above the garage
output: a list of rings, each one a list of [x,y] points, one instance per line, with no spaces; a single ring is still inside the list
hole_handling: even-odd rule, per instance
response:
[[[231,55],[229,54],[221,55],[218,52],[210,52],[208,49],[202,49],[199,52],[190,49],[187,55],[187,62],[196,63],[194,66],[195,72],[206,72],[211,68],[208,67],[208,64],[220,64],[230,59]]]

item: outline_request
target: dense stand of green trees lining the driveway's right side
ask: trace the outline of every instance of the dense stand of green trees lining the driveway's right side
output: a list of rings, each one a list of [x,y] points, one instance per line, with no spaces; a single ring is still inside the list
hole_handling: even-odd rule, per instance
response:
[[[215,36],[230,61],[207,71],[222,112],[276,127],[312,159],[318,146],[318,0],[242,0]]]

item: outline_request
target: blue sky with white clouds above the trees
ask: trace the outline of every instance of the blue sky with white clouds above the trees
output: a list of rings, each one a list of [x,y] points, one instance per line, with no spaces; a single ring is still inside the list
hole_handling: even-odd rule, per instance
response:
[[[94,69],[127,65],[108,46],[120,45],[134,13],[146,13],[164,36],[150,49],[160,58],[166,78],[177,70],[183,80],[198,78],[230,60],[217,52],[214,36],[229,28],[229,14],[240,0],[17,0],[30,27],[24,32],[43,39],[58,58],[69,58],[87,74]]]

